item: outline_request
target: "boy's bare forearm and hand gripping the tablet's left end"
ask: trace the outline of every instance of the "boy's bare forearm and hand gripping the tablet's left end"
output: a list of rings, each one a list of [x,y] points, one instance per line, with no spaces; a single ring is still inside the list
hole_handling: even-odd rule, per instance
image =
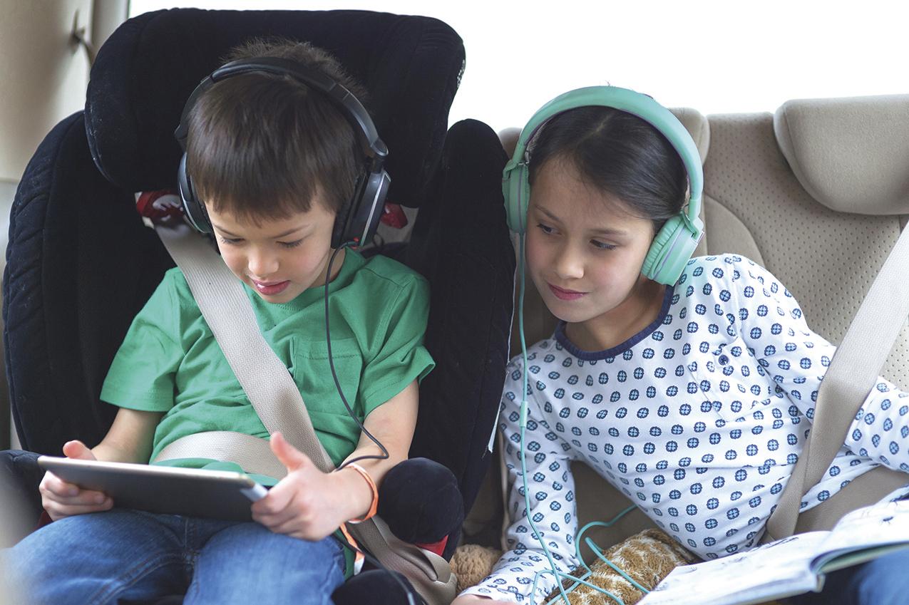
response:
[[[114,424],[95,448],[89,450],[82,441],[67,441],[63,452],[67,458],[81,460],[147,462],[152,453],[155,427],[161,416],[161,412],[120,408]],[[54,521],[86,512],[106,511],[114,506],[114,501],[105,493],[82,490],[73,483],[62,481],[52,472],[45,473],[38,490],[41,492],[41,505]]]

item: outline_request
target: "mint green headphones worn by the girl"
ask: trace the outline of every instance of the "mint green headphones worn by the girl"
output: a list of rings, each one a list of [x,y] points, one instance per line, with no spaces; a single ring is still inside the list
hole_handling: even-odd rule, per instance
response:
[[[682,212],[666,221],[660,233],[656,234],[641,268],[641,273],[654,282],[672,285],[682,275],[685,263],[694,254],[694,248],[704,235],[704,223],[698,216],[701,211],[704,173],[701,156],[691,135],[668,109],[645,94],[616,86],[590,86],[560,94],[544,104],[524,126],[514,147],[514,156],[505,164],[502,172],[508,227],[514,233],[522,235],[526,231],[527,206],[530,202],[526,152],[528,142],[555,115],[588,105],[613,107],[638,116],[660,131],[682,158],[688,173],[688,210],[685,212],[683,208]]]

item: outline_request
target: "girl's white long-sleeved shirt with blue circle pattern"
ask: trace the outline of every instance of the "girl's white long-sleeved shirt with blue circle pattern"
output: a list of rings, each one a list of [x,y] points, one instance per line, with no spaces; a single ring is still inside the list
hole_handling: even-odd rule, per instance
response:
[[[592,467],[685,548],[715,559],[761,538],[802,450],[835,349],[808,328],[792,294],[764,268],[726,254],[692,259],[667,297],[662,322],[614,349],[580,351],[560,326],[528,350],[530,501],[563,571],[577,564],[571,461]],[[509,550],[467,590],[518,602],[534,573],[549,569],[520,487],[522,368],[518,355],[499,417],[514,486]],[[906,398],[879,379],[803,510],[876,462],[909,471]],[[537,602],[553,588],[552,574],[542,576]]]

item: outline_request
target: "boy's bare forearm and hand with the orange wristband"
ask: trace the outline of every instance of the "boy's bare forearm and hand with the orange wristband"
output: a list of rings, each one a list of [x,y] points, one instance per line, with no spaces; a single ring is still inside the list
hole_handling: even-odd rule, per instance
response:
[[[416,426],[416,381],[366,416],[367,431],[385,445],[387,460],[359,461],[376,484],[398,462],[407,458]],[[268,495],[253,504],[253,519],[276,533],[304,540],[322,540],[344,523],[369,511],[373,492],[359,472],[346,469],[325,473],[280,433],[272,435],[272,450],[288,474]],[[381,451],[361,434],[357,449],[347,460]]]

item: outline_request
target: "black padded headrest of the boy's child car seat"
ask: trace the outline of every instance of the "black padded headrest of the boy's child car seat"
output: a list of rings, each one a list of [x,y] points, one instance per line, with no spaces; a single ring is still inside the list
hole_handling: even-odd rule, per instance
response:
[[[85,129],[101,173],[131,192],[175,187],[186,98],[231,47],[256,36],[321,46],[364,84],[390,151],[389,201],[418,205],[464,65],[460,36],[429,17],[174,9],[130,19],[99,50],[88,84]]]

